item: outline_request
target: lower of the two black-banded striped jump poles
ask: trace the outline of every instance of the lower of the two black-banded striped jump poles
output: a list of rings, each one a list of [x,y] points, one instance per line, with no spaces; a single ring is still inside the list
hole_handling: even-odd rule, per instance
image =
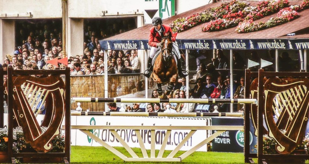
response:
[[[95,112],[71,111],[71,116],[163,116],[163,117],[243,117],[243,113],[164,113],[164,112]]]

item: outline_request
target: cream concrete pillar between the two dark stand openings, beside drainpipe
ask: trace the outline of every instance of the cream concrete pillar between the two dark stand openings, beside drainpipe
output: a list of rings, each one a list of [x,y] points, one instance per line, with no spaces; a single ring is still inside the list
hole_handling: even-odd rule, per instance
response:
[[[68,19],[68,29],[70,29],[67,31],[66,44],[68,57],[83,55],[84,19]]]

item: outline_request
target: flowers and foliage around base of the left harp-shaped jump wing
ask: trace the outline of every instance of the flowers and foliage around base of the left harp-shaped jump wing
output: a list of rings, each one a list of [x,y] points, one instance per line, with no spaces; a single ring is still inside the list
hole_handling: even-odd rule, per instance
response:
[[[46,127],[41,127],[42,132],[46,131]],[[7,128],[0,128],[0,151],[7,151],[8,143],[8,132]],[[52,140],[53,148],[50,153],[63,152],[64,151],[64,135],[60,133]],[[31,147],[30,144],[24,140],[23,129],[16,127],[13,129],[13,152],[14,153],[32,153],[36,151]]]

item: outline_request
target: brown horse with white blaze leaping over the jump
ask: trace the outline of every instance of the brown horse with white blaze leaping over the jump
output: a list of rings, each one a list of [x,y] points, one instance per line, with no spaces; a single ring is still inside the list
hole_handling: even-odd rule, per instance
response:
[[[178,77],[177,64],[172,52],[173,42],[171,40],[171,33],[167,33],[161,41],[161,52],[155,59],[153,65],[152,79],[158,85],[158,95],[163,98],[164,95],[170,95]],[[163,95],[162,84],[166,84],[167,89]]]

